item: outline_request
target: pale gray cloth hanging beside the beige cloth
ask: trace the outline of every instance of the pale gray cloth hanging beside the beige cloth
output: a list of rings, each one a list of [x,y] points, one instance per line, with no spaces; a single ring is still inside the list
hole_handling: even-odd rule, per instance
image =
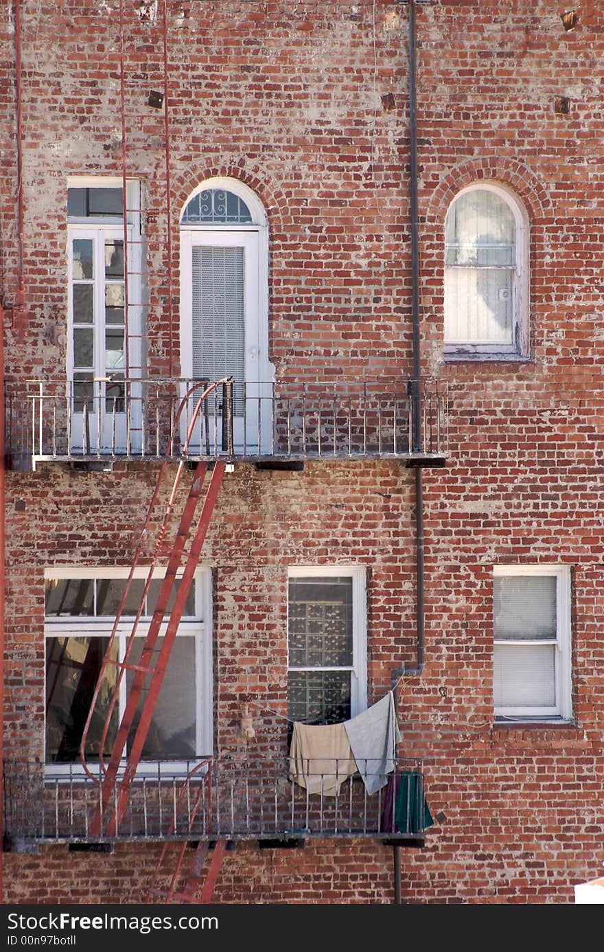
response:
[[[376,793],[396,766],[400,731],[394,693],[389,691],[366,711],[344,721],[344,730],[367,793]]]

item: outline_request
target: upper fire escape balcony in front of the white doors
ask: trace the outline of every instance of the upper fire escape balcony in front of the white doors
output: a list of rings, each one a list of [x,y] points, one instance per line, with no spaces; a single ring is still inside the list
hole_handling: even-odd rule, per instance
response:
[[[5,413],[13,469],[184,459],[444,466],[448,453],[447,392],[434,380],[9,382]]]

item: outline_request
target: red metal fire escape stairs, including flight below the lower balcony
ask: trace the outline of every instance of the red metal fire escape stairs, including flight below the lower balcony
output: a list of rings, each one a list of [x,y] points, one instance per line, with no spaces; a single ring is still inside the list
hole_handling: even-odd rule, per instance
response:
[[[212,387],[214,386],[218,386],[218,384],[212,385]],[[209,387],[209,389],[212,387]],[[200,398],[194,416],[199,412],[206,393],[207,390]],[[183,401],[182,406],[185,406],[185,401]],[[194,421],[191,422],[191,427],[193,426],[193,422]],[[96,689],[88,712],[88,720],[80,745],[80,757],[88,778],[94,780],[100,787],[98,805],[94,809],[88,829],[91,837],[113,838],[119,836],[120,823],[127,809],[130,784],[136,776],[136,771],[143,755],[146,736],[166,674],[170,652],[174,645],[178,627],[185,610],[186,600],[193,583],[195,570],[199,564],[212,512],[223,483],[226,464],[222,460],[217,460],[213,464],[205,494],[203,494],[203,489],[206,483],[206,474],[210,467],[205,462],[196,464],[173,542],[171,545],[166,545],[166,535],[174,516],[178,488],[187,467],[185,460],[182,460],[179,464],[166,503],[164,520],[157,533],[153,558],[151,559],[151,564],[147,566],[146,585],[141,596],[141,602],[127,639],[124,657],[120,660],[115,657],[113,644],[120,620],[124,613],[124,607],[127,603],[130,583],[134,578],[137,566],[145,556],[147,538],[153,526],[154,512],[160,498],[161,487],[166,478],[166,467],[167,463],[164,463],[161,467],[151,503],[148,507],[146,524],[134,554],[127,584],[116,613],[111,635],[108,639],[106,654],[101,664]],[[140,618],[144,612],[146,594],[153,577],[153,569],[157,564],[157,560],[162,555],[167,555],[165,575],[143,641],[140,659],[137,664],[133,664],[128,660],[130,650],[134,642],[134,636],[137,632]],[[182,567],[184,560],[185,564],[184,567]],[[172,608],[166,622],[168,605],[172,599],[177,577],[179,578],[179,585],[174,595]],[[162,634],[163,641],[158,648],[157,643],[160,638],[160,633]],[[115,741],[112,743],[111,749],[107,754],[107,760],[104,760],[102,754],[100,755],[98,766],[101,768],[101,776],[99,778],[98,770],[95,769],[97,764],[94,764],[94,767],[92,767],[91,765],[88,766],[87,763],[88,729],[97,699],[101,692],[104,676],[107,668],[110,666],[117,667],[117,677],[115,679],[111,701],[107,706],[107,716],[99,746],[102,752],[107,750],[110,743],[108,741],[109,730],[112,723],[113,711],[118,702],[121,682],[127,672],[130,672],[131,678],[129,679],[129,684],[127,684],[127,700],[124,713],[117,728]],[[188,832],[191,832],[191,839],[195,838],[192,834],[192,828],[195,814],[205,788],[209,790],[208,797],[211,798],[211,763],[205,761],[202,762],[202,764],[198,764],[192,773],[198,771],[202,765],[205,765],[207,776],[205,777],[205,783],[198,784],[195,809],[189,817]],[[184,782],[182,795],[185,795],[185,792],[188,791],[190,779],[191,775],[189,774]],[[183,902],[186,896],[189,897],[187,899],[188,902],[210,902],[220,864],[224,856],[226,843],[223,840],[219,840],[215,843],[205,878],[202,878],[205,858],[209,848],[209,840],[200,840],[196,851],[193,872],[189,875],[185,883],[184,891],[179,893],[177,898],[175,883],[184,861],[185,847],[186,843],[181,848],[176,869],[167,889],[165,899],[168,902],[172,900]],[[163,863],[166,855],[165,845],[160,856],[160,863],[156,870],[155,879],[157,879],[157,875],[159,875],[160,865]]]

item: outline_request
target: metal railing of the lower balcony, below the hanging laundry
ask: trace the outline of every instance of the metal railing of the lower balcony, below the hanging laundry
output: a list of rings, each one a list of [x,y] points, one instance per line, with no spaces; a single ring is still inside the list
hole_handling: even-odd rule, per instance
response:
[[[367,793],[362,779],[372,776],[371,764],[359,764],[359,772],[337,784],[335,795],[326,792],[338,769],[333,761],[324,774],[315,768],[310,776],[318,781],[318,792],[309,793],[290,775],[287,757],[269,762],[205,760],[202,769],[199,762],[180,763],[178,768],[172,762],[142,764],[117,832],[109,835],[102,828],[94,836],[90,823],[98,812],[101,783],[87,778],[76,764],[60,773],[52,764],[9,762],[4,774],[7,843],[19,849],[43,842],[313,837],[415,841],[424,836],[419,760],[399,758],[387,783],[373,794]]]

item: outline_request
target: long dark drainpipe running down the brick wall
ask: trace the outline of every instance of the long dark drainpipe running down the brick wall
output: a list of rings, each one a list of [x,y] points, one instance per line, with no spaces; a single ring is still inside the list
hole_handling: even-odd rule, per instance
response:
[[[419,236],[418,236],[418,142],[416,130],[416,4],[415,0],[399,0],[409,8],[409,178],[411,214],[411,319],[413,327],[413,378],[411,381],[412,448],[421,451],[421,413],[419,405]],[[416,667],[397,668],[392,684],[401,675],[417,675],[423,670],[424,599],[423,599],[423,484],[421,466],[415,466],[416,478],[416,564],[417,564],[417,645]],[[395,843],[395,904],[400,905],[400,846]]]

